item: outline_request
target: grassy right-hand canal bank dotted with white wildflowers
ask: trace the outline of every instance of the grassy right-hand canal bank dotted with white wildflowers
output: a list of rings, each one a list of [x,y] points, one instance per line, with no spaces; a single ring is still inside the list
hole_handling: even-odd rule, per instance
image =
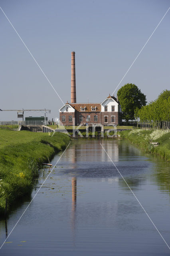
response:
[[[145,152],[153,153],[165,158],[170,162],[170,132],[155,130],[147,131],[134,129],[131,131],[118,132],[121,138],[125,138],[143,149]],[[158,146],[152,145],[152,142],[158,142]]]

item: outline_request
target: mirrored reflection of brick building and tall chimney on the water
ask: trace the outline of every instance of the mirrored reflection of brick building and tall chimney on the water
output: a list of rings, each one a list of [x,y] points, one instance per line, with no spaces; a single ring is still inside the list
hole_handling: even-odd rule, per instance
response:
[[[102,149],[99,144],[100,140],[95,140],[93,143],[89,140],[85,144],[81,145],[72,145],[70,151],[68,150],[67,161],[71,163],[72,172],[70,174],[73,175],[71,178],[71,190],[72,190],[72,205],[71,205],[71,232],[72,232],[72,241],[73,246],[75,246],[76,241],[76,228],[77,228],[77,178],[76,173],[79,172],[78,166],[83,156],[83,162],[98,162],[99,159],[101,162],[110,162],[106,152]],[[103,147],[108,152],[109,156],[113,159],[114,162],[119,161],[119,148],[117,142],[113,140],[102,140],[101,141]],[[78,161],[78,166],[77,166]],[[117,180],[118,181],[118,180]],[[115,182],[114,180],[109,182]]]

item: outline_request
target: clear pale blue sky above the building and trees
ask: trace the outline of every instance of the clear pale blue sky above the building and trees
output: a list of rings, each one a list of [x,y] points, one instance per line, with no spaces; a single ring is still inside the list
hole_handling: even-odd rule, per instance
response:
[[[0,6],[64,103],[70,102],[72,51],[77,102],[103,102],[125,75],[170,1],[0,0]],[[63,103],[1,10],[0,38],[0,108],[49,108],[49,119],[59,117]],[[119,88],[126,83],[136,84],[148,102],[170,89],[170,10]],[[43,113],[25,116],[31,115]],[[21,119],[15,112],[0,112],[3,120]]]

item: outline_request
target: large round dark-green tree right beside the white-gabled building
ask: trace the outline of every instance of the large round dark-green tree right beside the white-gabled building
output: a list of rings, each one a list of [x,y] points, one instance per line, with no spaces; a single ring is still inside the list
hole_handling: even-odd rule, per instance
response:
[[[117,96],[122,108],[122,118],[127,122],[134,120],[134,111],[146,105],[146,95],[140,92],[135,84],[125,84],[118,92]]]

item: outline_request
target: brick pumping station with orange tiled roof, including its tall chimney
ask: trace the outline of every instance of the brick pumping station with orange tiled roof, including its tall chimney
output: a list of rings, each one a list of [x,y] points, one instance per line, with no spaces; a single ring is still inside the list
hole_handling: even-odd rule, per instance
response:
[[[71,103],[59,110],[60,125],[121,124],[121,105],[118,98],[109,96],[102,103],[77,103],[75,85],[75,52],[71,52]]]

